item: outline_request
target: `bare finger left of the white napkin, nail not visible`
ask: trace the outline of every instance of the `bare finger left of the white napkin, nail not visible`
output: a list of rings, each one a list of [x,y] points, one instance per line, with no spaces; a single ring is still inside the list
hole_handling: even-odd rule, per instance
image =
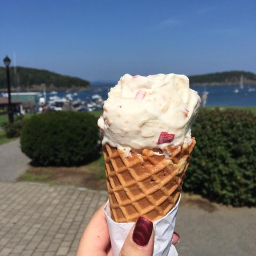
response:
[[[104,205],[95,212],[80,240],[76,256],[106,256],[110,246],[107,221],[103,211]]]

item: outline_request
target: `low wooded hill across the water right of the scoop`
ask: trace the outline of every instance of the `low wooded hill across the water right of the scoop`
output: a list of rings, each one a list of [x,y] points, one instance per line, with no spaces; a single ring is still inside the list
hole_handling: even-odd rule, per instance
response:
[[[205,75],[189,76],[190,84],[194,85],[236,85],[243,75],[244,84],[256,84],[256,74],[245,71],[226,71]]]

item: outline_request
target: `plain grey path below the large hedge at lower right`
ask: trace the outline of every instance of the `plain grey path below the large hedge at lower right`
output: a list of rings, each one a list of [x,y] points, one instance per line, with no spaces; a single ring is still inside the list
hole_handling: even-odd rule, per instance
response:
[[[256,255],[256,208],[216,206],[210,212],[193,204],[178,210],[175,231],[181,256]]]

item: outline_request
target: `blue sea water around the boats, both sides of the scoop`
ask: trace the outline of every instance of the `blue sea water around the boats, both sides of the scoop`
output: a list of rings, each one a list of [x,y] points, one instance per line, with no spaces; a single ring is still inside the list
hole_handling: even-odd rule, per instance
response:
[[[208,92],[206,106],[256,106],[256,85],[246,85],[243,89],[239,89],[238,86],[191,86],[191,88],[197,91],[200,96],[202,96],[203,92]],[[237,93],[234,92],[236,89],[238,90]],[[249,89],[255,89],[255,91],[249,92]],[[109,88],[106,87],[95,87],[93,90],[86,90],[81,92],[59,91],[56,95],[60,98],[65,98],[67,94],[71,94],[73,100],[88,100],[92,97],[92,95],[99,94],[103,100],[106,100],[108,97],[108,91]],[[47,92],[47,100],[49,100],[50,96],[52,96],[52,94]]]

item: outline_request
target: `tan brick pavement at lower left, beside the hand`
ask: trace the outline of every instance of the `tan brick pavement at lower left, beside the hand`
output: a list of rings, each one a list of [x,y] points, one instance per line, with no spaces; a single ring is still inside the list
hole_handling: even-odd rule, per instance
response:
[[[0,256],[73,256],[103,191],[0,182]]]

